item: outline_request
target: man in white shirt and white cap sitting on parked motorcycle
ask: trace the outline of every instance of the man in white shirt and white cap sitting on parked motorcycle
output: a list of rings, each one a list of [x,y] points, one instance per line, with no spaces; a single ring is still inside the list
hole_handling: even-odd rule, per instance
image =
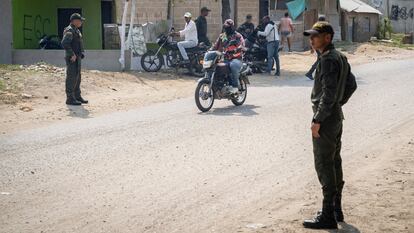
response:
[[[193,20],[191,20],[191,13],[187,12],[184,14],[185,26],[184,29],[174,33],[174,35],[179,35],[180,37],[184,37],[183,41],[177,43],[177,47],[180,50],[181,56],[183,57],[183,64],[190,63],[188,59],[187,52],[185,49],[193,48],[198,45],[198,38],[197,38],[197,26]]]

